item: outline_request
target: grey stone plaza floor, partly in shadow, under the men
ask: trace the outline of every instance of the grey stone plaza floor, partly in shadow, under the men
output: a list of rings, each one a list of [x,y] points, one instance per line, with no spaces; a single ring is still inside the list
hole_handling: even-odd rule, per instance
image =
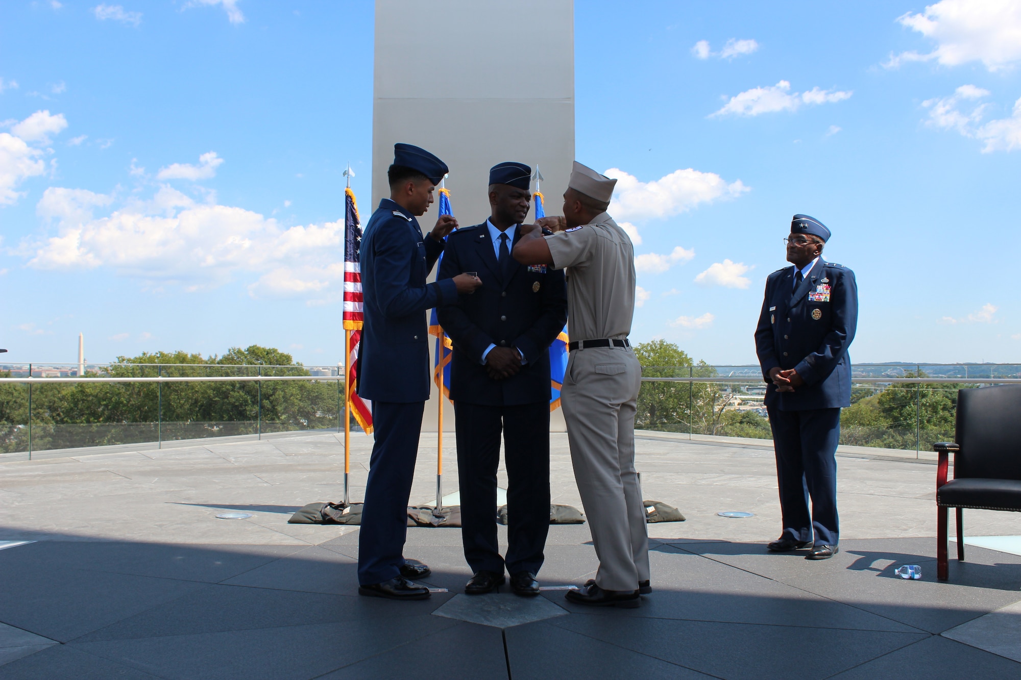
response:
[[[687,521],[649,525],[653,593],[637,610],[574,606],[563,589],[460,594],[457,529],[408,530],[405,555],[447,592],[358,596],[357,529],[287,524],[342,496],[336,434],[0,459],[0,678],[1021,677],[1021,549],[969,539],[1000,549],[968,545],[936,582],[931,463],[841,453],[841,549],[814,563],[766,552],[768,442],[638,436],[645,497]],[[434,499],[435,443],[423,435],[412,502]],[[352,436],[355,500],[370,448]],[[554,502],[580,506],[566,435],[552,449]],[[456,490],[452,446],[444,473]],[[252,517],[216,519],[228,511]],[[965,520],[969,536],[1021,534],[1014,514]],[[922,580],[896,577],[905,564]],[[543,585],[595,567],[587,525],[550,527]]]

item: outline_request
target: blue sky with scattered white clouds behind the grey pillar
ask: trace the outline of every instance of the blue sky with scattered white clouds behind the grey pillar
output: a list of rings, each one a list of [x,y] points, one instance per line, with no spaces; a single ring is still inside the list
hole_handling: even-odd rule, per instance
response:
[[[611,212],[637,235],[633,340],[753,361],[805,212],[858,275],[856,361],[1021,361],[1021,0],[575,15],[577,155],[620,179]],[[79,332],[97,361],[252,343],[340,359],[372,37],[367,0],[5,3],[6,360],[72,360]]]

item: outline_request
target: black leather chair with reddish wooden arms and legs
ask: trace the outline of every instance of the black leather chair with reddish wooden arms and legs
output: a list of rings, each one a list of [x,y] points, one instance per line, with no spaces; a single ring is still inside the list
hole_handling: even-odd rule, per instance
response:
[[[936,578],[949,578],[946,511],[957,508],[964,562],[964,508],[1021,513],[1021,385],[958,390],[957,442],[933,444],[936,471]],[[954,479],[946,481],[950,453]]]

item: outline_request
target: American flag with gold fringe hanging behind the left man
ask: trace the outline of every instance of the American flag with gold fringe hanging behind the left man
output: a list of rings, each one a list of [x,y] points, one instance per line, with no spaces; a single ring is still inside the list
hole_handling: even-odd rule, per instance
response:
[[[358,351],[361,349],[361,325],[364,315],[361,311],[361,264],[358,261],[358,249],[361,247],[361,225],[358,220],[358,205],[354,201],[354,192],[348,187],[344,190],[346,209],[344,213],[344,330],[350,331],[347,351],[351,357],[347,368],[347,400],[351,404],[351,412],[366,433],[373,431],[373,404],[362,399],[354,391],[357,384]]]

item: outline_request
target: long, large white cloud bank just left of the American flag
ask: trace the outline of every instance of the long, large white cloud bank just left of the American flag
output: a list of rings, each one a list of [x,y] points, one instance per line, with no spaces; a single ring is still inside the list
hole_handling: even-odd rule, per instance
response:
[[[108,269],[186,290],[247,279],[249,294],[335,298],[344,281],[344,222],[285,229],[275,220],[217,204],[197,203],[173,187],[151,198],[115,197],[51,187],[37,212],[49,226],[16,250],[31,268]],[[99,208],[105,214],[93,216]]]

